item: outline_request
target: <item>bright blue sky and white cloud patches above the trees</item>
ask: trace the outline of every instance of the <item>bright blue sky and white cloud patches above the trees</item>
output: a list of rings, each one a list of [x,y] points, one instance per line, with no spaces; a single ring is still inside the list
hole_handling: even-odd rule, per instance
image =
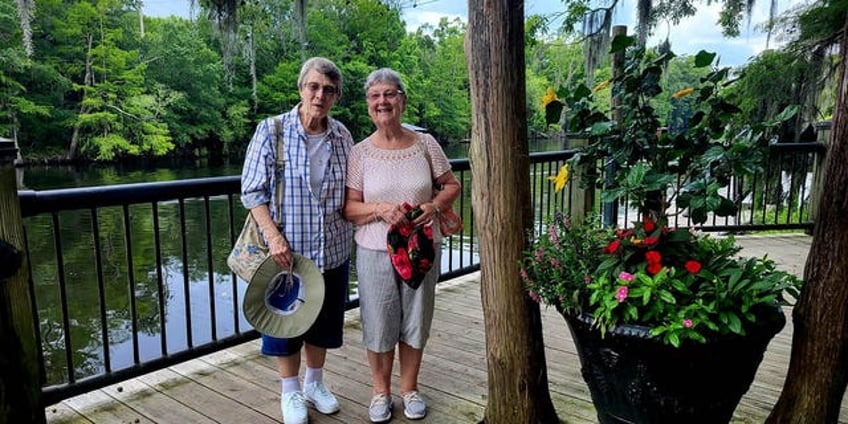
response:
[[[613,20],[613,25],[627,25],[628,32],[633,33],[635,0],[620,0],[621,6]],[[778,13],[788,10],[804,0],[778,0]],[[713,1],[710,6],[706,1],[698,4],[698,14],[687,18],[675,27],[660,24],[655,34],[648,40],[649,45],[656,45],[666,38],[671,41],[671,49],[678,55],[694,55],[700,50],[718,53],[721,65],[737,66],[745,64],[749,58],[766,48],[766,34],[758,32],[756,25],[768,19],[770,1],[759,0],[754,7],[750,25],[743,23],[742,34],[733,39],[721,35],[716,22],[720,6]],[[437,24],[443,17],[453,20],[459,18],[467,22],[468,2],[465,0],[403,0],[402,18],[407,30],[415,31],[419,26],[429,23]],[[177,15],[189,17],[189,0],[144,0],[145,14],[148,16]],[[564,10],[563,0],[525,0],[525,15],[539,14],[554,16]],[[555,22],[554,25],[557,23]],[[771,48],[778,47],[772,39]]]

